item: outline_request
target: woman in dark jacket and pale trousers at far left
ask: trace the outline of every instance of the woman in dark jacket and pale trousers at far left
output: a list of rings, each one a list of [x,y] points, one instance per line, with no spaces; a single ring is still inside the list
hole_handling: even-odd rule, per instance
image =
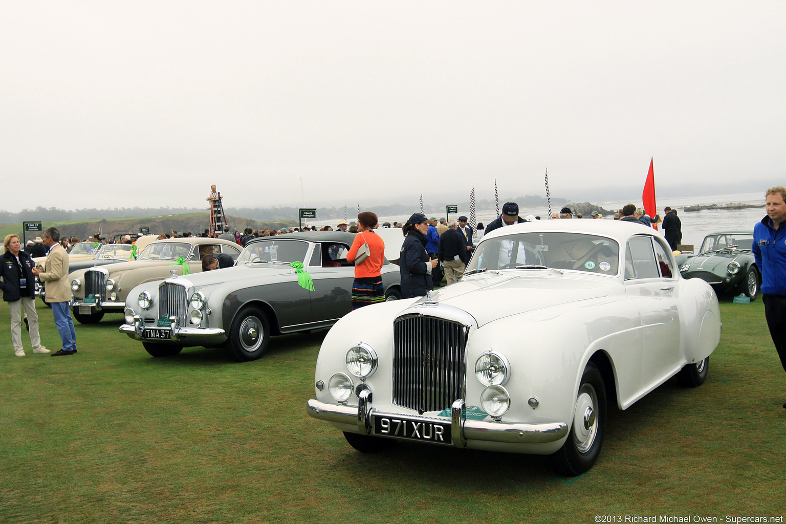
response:
[[[11,343],[17,357],[24,357],[22,348],[22,308],[28,314],[30,343],[33,353],[50,353],[41,345],[39,316],[35,313],[35,262],[30,255],[20,251],[19,236],[9,235],[3,242],[6,252],[0,257],[0,289],[2,299],[11,310]]]

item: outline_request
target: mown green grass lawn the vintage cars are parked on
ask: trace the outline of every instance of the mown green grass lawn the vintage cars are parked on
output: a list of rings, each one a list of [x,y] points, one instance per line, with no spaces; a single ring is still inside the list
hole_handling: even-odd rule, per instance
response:
[[[248,364],[199,348],[154,359],[108,315],[76,324],[73,357],[20,358],[0,304],[0,522],[780,517],[786,374],[760,301],[725,300],[721,310],[707,383],[689,390],[672,379],[612,409],[595,467],[562,478],[543,456],[416,444],[354,451],[305,412],[324,332],[275,338]],[[40,302],[39,318],[43,343],[59,349]]]

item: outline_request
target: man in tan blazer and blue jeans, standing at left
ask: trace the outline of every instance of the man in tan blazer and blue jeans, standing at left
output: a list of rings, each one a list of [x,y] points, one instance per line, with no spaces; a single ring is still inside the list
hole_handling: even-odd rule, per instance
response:
[[[63,341],[61,350],[53,357],[76,353],[76,332],[71,320],[68,302],[71,302],[71,286],[68,284],[68,254],[60,245],[60,231],[56,227],[44,231],[44,245],[49,249],[43,270],[33,269],[33,274],[44,283],[46,302],[52,305],[52,314],[57,331]]]

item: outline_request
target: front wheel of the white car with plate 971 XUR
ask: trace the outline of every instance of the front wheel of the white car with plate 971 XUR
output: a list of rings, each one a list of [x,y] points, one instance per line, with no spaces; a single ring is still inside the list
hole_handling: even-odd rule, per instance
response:
[[[587,363],[576,395],[571,433],[552,456],[554,471],[560,475],[581,475],[597,461],[606,428],[606,387],[601,372]]]

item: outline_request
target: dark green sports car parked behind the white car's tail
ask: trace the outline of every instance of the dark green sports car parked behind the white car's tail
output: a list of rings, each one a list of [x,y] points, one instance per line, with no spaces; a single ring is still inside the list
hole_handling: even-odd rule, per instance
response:
[[[715,291],[744,293],[752,301],[762,283],[752,244],[752,231],[712,233],[704,237],[698,255],[682,253],[674,260],[683,278],[701,278]]]

